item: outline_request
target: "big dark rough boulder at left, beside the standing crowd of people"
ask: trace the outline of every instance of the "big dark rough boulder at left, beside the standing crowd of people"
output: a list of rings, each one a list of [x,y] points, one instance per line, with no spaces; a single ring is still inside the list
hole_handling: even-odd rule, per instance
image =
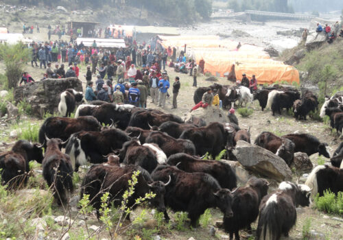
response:
[[[43,117],[45,112],[57,112],[60,93],[67,88],[82,92],[82,82],[76,77],[45,79],[14,88],[14,100],[26,101],[32,106],[36,117]]]

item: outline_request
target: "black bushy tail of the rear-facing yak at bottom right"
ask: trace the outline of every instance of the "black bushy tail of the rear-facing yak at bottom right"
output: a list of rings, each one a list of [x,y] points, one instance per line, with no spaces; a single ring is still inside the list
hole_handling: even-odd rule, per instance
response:
[[[259,223],[257,225],[257,240],[278,240],[281,237],[281,226],[276,217],[276,204],[270,203],[259,214]]]

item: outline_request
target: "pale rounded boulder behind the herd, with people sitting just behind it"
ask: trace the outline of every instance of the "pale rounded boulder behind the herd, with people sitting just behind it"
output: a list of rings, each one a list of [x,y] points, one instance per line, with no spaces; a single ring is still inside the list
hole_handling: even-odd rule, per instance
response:
[[[213,106],[207,106],[207,108],[198,108],[187,114],[185,117],[185,122],[189,121],[193,117],[198,117],[206,121],[207,124],[217,121],[219,123],[228,123],[230,120],[226,116],[225,112],[220,108]]]

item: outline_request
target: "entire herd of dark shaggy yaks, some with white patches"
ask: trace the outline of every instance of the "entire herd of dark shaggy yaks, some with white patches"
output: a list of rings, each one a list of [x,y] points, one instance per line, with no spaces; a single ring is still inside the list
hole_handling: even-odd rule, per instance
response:
[[[294,109],[295,116],[306,117],[318,108],[317,97],[307,91],[300,93],[288,88],[265,88],[253,97],[244,87],[229,88],[214,84],[224,106],[239,101],[258,99],[262,110],[268,108],[281,113],[283,108]],[[198,88],[194,101],[204,89]],[[68,93],[66,93],[68,92]],[[68,115],[75,108],[80,93],[72,89],[61,93],[59,109]],[[200,97],[201,99],[201,97]],[[200,100],[199,100],[200,101]],[[325,101],[321,115],[329,115],[333,127],[342,132],[342,96]],[[29,178],[29,161],[42,163],[43,176],[58,204],[67,204],[73,191],[73,172],[81,165],[92,163],[82,182],[81,197],[90,195],[91,204],[99,217],[100,198],[110,193],[110,201],[118,206],[121,195],[128,189],[128,180],[139,171],[134,200],[153,192],[150,205],[169,220],[166,207],[185,211],[196,226],[206,208],[222,211],[223,226],[230,239],[239,239],[239,230],[251,230],[257,217],[257,239],[279,239],[288,235],[296,222],[296,206],[309,206],[310,199],[326,189],[343,191],[343,143],[331,157],[331,165],[313,169],[305,184],[281,182],[279,189],[268,194],[270,183],[263,178],[251,178],[244,187],[237,188],[235,171],[228,163],[202,160],[208,153],[215,157],[223,149],[235,148],[237,141],[250,143],[250,132],[235,123],[205,123],[193,117],[185,123],[180,117],[161,110],[135,108],[94,101],[81,104],[75,118],[49,117],[39,131],[40,143],[17,141],[12,150],[0,155],[1,180],[9,189],[16,189]],[[327,144],[310,134],[276,136],[262,132],[255,144],[270,150],[290,165],[294,152],[307,155],[322,154],[330,158]],[[45,154],[43,154],[43,148]],[[62,149],[64,151],[62,152]],[[129,218],[130,216],[128,216]]]

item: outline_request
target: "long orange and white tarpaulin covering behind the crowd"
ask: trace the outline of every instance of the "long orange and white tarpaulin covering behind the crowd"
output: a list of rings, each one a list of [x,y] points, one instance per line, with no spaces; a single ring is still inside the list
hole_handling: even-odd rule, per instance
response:
[[[220,40],[218,36],[159,36],[163,47],[183,48],[187,45],[187,56],[192,56],[199,64],[205,61],[204,72],[224,76],[230,72],[235,64],[237,80],[241,80],[242,73],[248,78],[256,75],[258,84],[272,84],[286,81],[299,83],[299,73],[294,67],[283,62],[270,59],[262,47],[241,44],[236,49],[238,42]],[[189,51],[191,52],[189,54]]]

